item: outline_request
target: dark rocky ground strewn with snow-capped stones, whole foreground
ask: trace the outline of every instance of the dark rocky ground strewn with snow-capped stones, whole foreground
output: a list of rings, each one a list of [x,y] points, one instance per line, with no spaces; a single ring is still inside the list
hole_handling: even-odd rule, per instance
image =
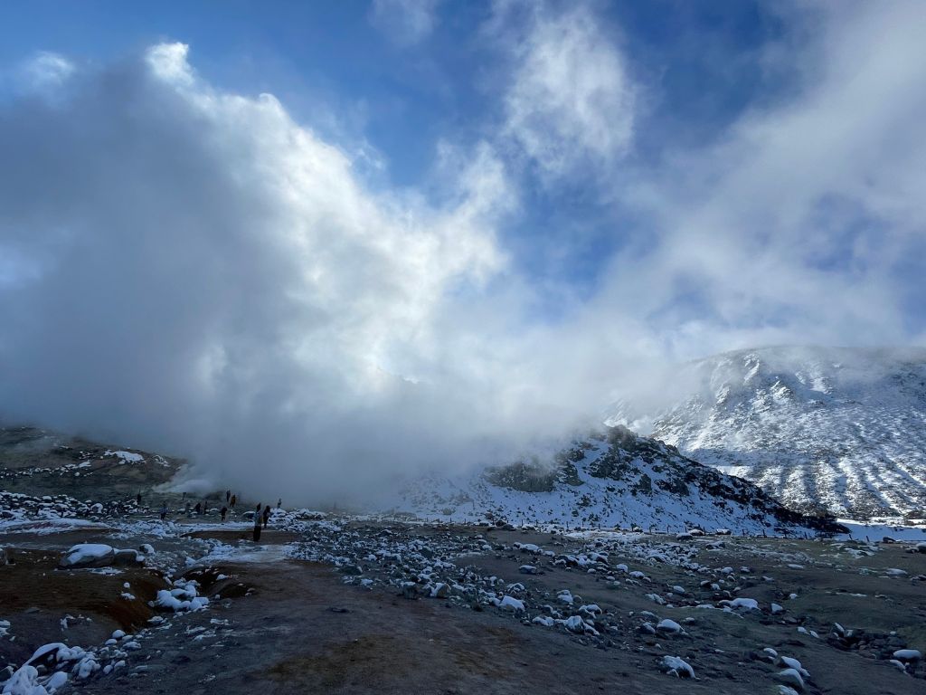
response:
[[[159,479],[165,466],[147,464]],[[107,476],[144,478],[138,461],[114,461],[81,501],[44,494],[60,473],[28,470],[0,493],[0,684],[13,695],[926,687],[916,542],[281,510],[255,543],[244,514],[219,521],[218,498],[197,516],[180,495],[112,494]]]

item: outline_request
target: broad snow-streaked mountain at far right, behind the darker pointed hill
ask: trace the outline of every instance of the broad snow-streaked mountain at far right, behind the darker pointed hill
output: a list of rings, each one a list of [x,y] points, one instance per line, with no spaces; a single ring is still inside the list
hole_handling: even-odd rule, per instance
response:
[[[757,483],[789,507],[926,515],[926,350],[766,347],[683,365],[668,405],[608,423]]]

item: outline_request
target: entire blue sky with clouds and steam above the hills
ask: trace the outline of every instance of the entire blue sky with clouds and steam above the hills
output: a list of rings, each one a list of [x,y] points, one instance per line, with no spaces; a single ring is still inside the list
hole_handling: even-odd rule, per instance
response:
[[[926,345],[924,21],[4,3],[0,418],[341,494],[679,360]]]

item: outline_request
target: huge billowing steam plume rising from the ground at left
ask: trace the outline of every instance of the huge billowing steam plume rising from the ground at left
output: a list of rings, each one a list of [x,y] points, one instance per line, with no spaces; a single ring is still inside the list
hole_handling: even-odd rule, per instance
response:
[[[181,44],[71,89],[0,116],[7,417],[306,501],[582,415],[539,388],[498,318],[516,313],[482,306],[516,199],[488,145],[435,207],[365,190],[272,96],[197,79]]]

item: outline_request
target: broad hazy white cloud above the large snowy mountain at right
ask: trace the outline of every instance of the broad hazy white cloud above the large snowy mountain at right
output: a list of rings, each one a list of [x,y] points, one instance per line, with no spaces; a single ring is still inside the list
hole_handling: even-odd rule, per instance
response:
[[[685,356],[909,339],[926,272],[926,8],[785,19],[816,39],[789,57],[788,96],[618,194],[648,211],[651,238],[614,259],[599,306],[632,304]]]

